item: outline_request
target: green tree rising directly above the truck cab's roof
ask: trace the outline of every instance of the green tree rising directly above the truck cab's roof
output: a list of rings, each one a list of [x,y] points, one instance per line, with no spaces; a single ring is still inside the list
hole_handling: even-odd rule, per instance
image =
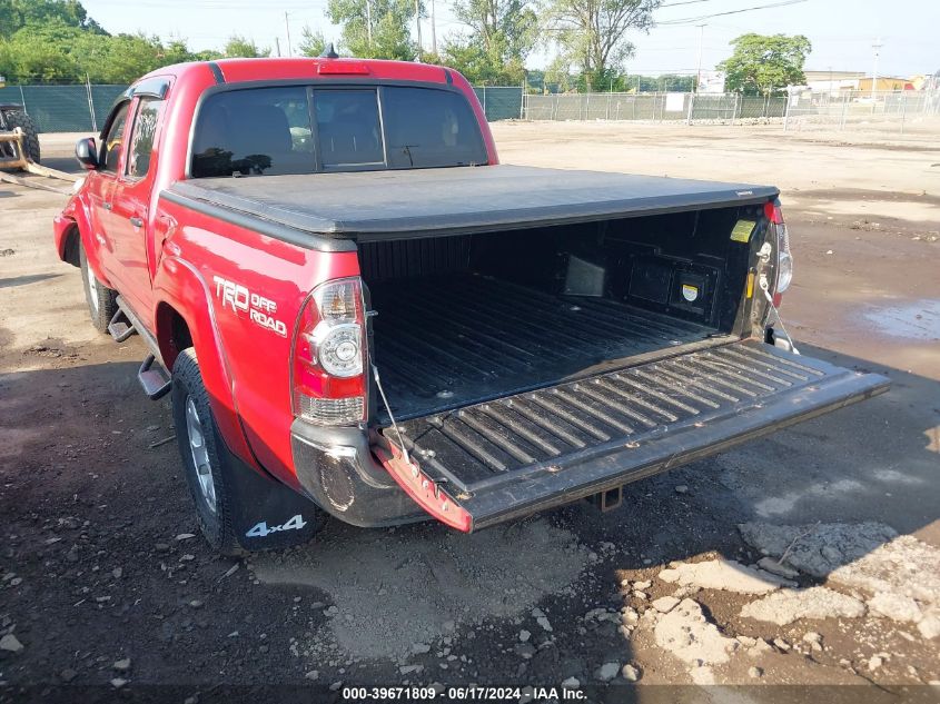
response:
[[[413,0],[329,0],[327,14],[343,27],[343,48],[354,57],[410,61],[417,56]]]

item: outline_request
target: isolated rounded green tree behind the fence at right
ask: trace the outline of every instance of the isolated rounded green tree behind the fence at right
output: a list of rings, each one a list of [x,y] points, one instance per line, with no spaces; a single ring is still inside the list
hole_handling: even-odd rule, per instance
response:
[[[807,80],[803,65],[812,44],[802,34],[742,34],[731,46],[734,52],[715,67],[725,72],[728,90],[769,96]]]

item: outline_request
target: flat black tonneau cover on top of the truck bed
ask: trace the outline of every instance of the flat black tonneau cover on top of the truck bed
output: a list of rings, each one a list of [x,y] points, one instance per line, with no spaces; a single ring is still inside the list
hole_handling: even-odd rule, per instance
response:
[[[370,241],[764,202],[770,186],[522,166],[178,181],[162,196],[320,237]]]

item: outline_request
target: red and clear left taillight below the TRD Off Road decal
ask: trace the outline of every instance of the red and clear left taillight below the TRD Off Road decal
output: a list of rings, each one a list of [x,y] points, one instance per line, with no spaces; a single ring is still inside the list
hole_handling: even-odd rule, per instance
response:
[[[304,303],[294,333],[294,415],[315,425],[365,420],[366,355],[359,278],[317,286]]]

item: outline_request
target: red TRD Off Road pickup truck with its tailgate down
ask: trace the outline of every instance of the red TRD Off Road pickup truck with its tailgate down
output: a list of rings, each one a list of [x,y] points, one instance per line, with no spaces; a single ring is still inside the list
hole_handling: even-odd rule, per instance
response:
[[[222,553],[327,514],[469,532],[606,509],[888,387],[774,335],[775,188],[501,166],[447,68],[168,67],[76,153],[59,256],[95,326],[149,348],[140,384],[171,394]]]

